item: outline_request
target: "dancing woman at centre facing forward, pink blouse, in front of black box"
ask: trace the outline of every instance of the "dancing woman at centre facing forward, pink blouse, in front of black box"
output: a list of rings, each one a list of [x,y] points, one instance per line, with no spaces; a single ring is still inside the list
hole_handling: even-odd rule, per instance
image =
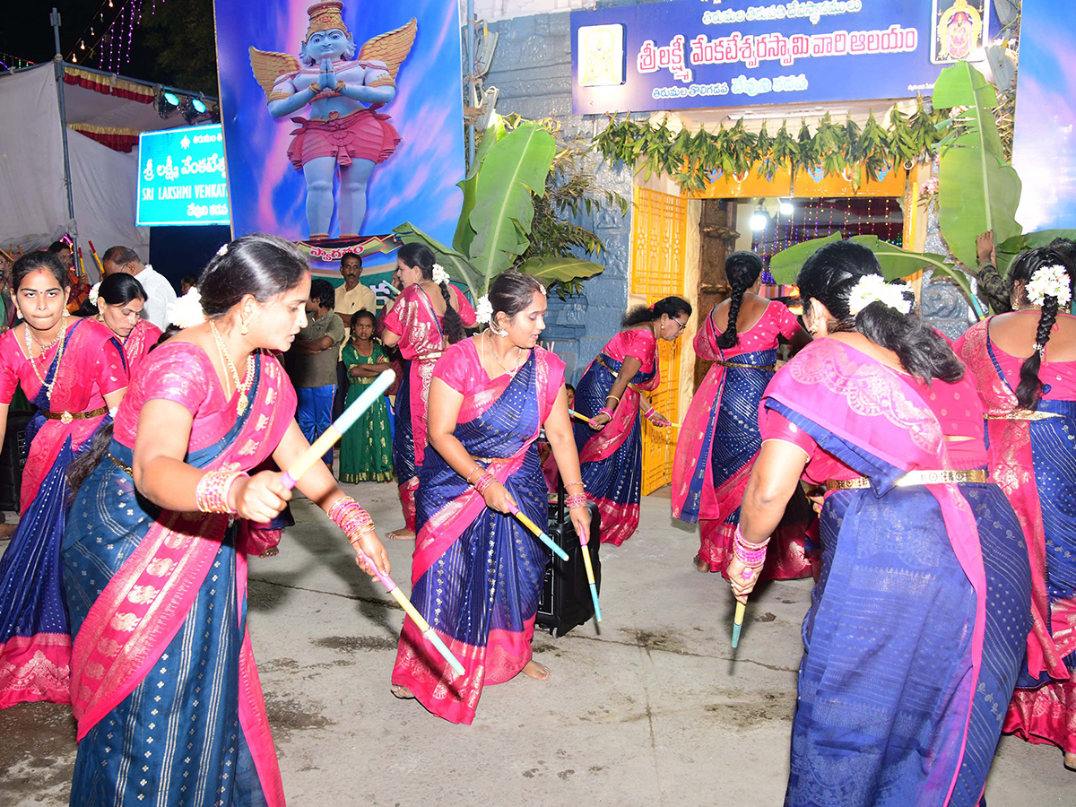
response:
[[[393,694],[416,697],[453,723],[475,719],[482,686],[521,670],[548,678],[530,638],[549,550],[509,515],[543,529],[546,480],[535,441],[546,437],[564,478],[578,534],[590,511],[571,437],[564,363],[538,345],[546,289],[508,271],[490,287],[490,327],[452,345],[429,386],[429,447],[415,497],[419,537],[411,601],[463,662],[456,676],[404,622]]]

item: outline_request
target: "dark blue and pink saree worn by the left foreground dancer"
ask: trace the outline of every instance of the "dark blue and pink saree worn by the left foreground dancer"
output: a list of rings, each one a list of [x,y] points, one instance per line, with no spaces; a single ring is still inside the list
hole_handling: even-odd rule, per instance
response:
[[[244,414],[224,435],[208,443],[202,441],[204,448],[193,450],[187,456],[189,464],[207,470],[251,470],[266,462],[279,445],[293,420],[295,392],[274,358],[260,355],[255,368],[251,405]],[[228,401],[227,406],[235,413],[235,401]],[[213,411],[201,423],[220,424],[215,419]],[[195,423],[197,428],[199,420]],[[110,454],[80,490],[74,507],[83,523],[72,524],[65,543],[69,575],[77,582],[69,595],[72,619],[81,623],[76,624],[72,660],[79,739],[89,742],[89,738],[103,731],[102,726],[115,723],[125,726],[121,730],[126,733],[124,736],[145,735],[144,741],[152,742],[153,736],[148,734],[152,726],[146,724],[153,719],[142,714],[148,707],[142,706],[146,698],[139,694],[145,689],[143,682],[159,678],[159,685],[174,689],[173,697],[180,698],[158,707],[164,712],[156,722],[162,726],[171,719],[167,717],[170,709],[189,708],[180,694],[186,690],[185,684],[180,682],[201,674],[209,679],[203,688],[212,686],[223,694],[220,698],[194,695],[197,708],[190,720],[199,721],[194,725],[220,722],[226,726],[229,720],[237,720],[236,711],[230,711],[231,718],[226,712],[238,709],[237,725],[242,741],[232,737],[228,759],[238,761],[240,766],[252,764],[266,802],[272,807],[283,805],[280,770],[245,629],[246,548],[242,543],[236,546],[226,515],[153,508],[136,495],[124,468],[130,463],[131,450],[113,439]],[[109,541],[102,542],[94,535],[107,535]],[[80,568],[86,567],[96,568],[97,574],[107,578],[108,572],[102,569],[111,570],[111,578],[103,585],[87,587],[79,574]],[[214,613],[217,619],[212,619]],[[192,624],[193,618],[208,622],[204,626],[201,622]],[[211,666],[184,669],[187,652],[176,652],[175,659],[161,664],[162,656],[173,655],[166,652],[173,640],[192,631],[198,639],[195,641],[192,636],[190,641],[206,646],[199,652],[216,654],[208,656]],[[192,694],[187,692],[186,697]],[[223,746],[216,747],[217,742],[228,741],[214,740],[213,756],[220,755],[221,764],[230,766],[231,762],[224,761],[228,754]],[[113,748],[99,748],[101,745]],[[80,747],[75,788],[82,795],[85,795],[83,789],[101,787],[104,781],[100,771],[89,774],[81,765],[83,752],[100,758],[100,764],[105,764],[111,759],[109,753],[115,758],[129,752],[118,746],[98,738],[89,749]],[[167,762],[171,758],[164,747],[157,750],[160,759],[154,756],[151,767],[181,764]],[[124,763],[116,764],[124,769]],[[170,770],[155,769],[147,778],[165,792],[167,787],[161,782],[168,779]],[[221,767],[221,771],[224,780],[231,775],[238,777],[236,768]],[[119,782],[113,785],[124,789]],[[133,784],[129,788],[131,792],[137,790]]]

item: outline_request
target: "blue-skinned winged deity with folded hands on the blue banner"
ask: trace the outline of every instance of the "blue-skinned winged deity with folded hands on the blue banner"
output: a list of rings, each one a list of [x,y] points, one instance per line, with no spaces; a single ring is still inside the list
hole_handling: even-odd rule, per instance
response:
[[[396,96],[396,77],[414,43],[417,20],[412,17],[372,37],[356,57],[342,2],[318,2],[307,14],[310,26],[298,58],[251,46],[251,68],[274,118],[310,107],[309,118],[291,118],[299,128],[292,132],[287,148],[288,159],[306,181],[310,240],[329,238],[334,213],[339,237],[358,238],[373,168],[400,143],[388,115],[379,110]]]

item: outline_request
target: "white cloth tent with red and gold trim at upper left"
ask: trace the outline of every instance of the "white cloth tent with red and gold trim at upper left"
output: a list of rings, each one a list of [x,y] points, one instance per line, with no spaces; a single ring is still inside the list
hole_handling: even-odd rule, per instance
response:
[[[56,73],[53,62],[0,73],[0,247],[43,249],[65,232],[98,252],[124,244],[147,259],[150,229],[134,226],[138,154],[114,151],[72,126],[133,136],[185,125],[157,114],[153,85],[65,65],[68,153],[74,220],[68,213]],[[197,94],[184,94],[197,96]],[[147,100],[151,102],[146,102]],[[88,250],[83,249],[91,271]],[[91,277],[96,271],[91,271]]]

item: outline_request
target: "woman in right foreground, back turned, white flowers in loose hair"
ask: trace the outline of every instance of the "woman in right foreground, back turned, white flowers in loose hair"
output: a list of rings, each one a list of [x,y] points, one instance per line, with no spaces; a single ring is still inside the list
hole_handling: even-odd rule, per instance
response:
[[[826,486],[784,803],[974,807],[1031,627],[975,379],[865,246],[823,246],[797,284],[816,341],[766,388],[728,564],[742,599],[801,473]]]

